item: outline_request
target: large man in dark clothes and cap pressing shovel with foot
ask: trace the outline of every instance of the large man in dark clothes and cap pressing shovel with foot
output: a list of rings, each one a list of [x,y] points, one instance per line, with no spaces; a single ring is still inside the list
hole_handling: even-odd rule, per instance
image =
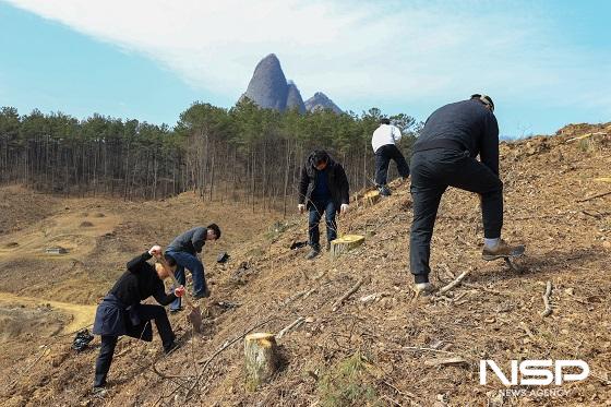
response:
[[[480,160],[476,159],[478,155]],[[435,110],[414,144],[409,167],[414,200],[409,264],[417,292],[427,295],[433,290],[429,283],[431,237],[441,196],[447,187],[480,196],[483,260],[524,253],[524,246],[510,246],[501,239],[503,182],[499,178],[499,124],[489,96],[476,94]]]

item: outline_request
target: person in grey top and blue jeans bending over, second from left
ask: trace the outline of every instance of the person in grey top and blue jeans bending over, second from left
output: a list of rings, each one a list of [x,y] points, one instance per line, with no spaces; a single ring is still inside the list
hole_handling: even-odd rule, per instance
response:
[[[178,236],[166,250],[166,254],[176,260],[177,270],[175,276],[181,285],[187,283],[184,268],[191,272],[193,276],[193,298],[195,299],[209,297],[211,295],[204,275],[204,264],[197,259],[197,253],[202,252],[206,240],[219,238],[220,228],[216,224],[211,224],[207,227],[199,226]],[[177,298],[170,304],[170,312],[179,310],[181,310],[180,298]]]

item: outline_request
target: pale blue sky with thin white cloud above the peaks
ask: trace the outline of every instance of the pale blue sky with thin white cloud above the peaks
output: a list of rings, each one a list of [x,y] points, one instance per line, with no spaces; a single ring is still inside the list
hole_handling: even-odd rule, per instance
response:
[[[0,1],[0,106],[173,125],[278,56],[304,99],[419,120],[472,93],[501,133],[611,121],[611,1]]]

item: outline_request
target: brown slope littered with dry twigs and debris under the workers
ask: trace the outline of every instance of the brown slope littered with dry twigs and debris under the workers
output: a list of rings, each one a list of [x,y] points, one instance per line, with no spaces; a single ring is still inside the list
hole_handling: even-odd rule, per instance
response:
[[[283,230],[274,228],[268,239],[262,236],[265,228],[259,227],[260,236],[250,238],[236,228],[228,237],[231,246],[223,247],[231,254],[229,262],[206,263],[213,297],[203,302],[209,309],[205,334],[191,336],[182,315],[171,316],[184,346],[170,358],[158,357],[157,338],[152,344],[122,339],[104,404],[603,405],[611,398],[610,196],[577,201],[604,192],[594,179],[608,176],[611,142],[599,137],[592,151],[566,143],[591,131],[580,125],[564,129],[555,137],[501,145],[504,237],[527,244],[520,261],[523,274],[508,271],[503,262],[480,259],[478,200],[457,190],[444,195],[440,208],[432,242],[432,279],[441,286],[464,271],[469,275],[446,295],[429,299],[415,298],[409,288],[408,184],[395,185],[392,197],[370,208],[354,207],[340,218],[342,234],[363,235],[366,242],[335,261],[328,256],[306,261],[307,248],[289,249],[306,237],[303,217]],[[165,203],[147,205],[167,214],[187,213],[187,202],[181,197],[167,207]],[[249,217],[248,213],[238,215],[242,217],[231,219]],[[262,225],[262,219],[257,222]],[[143,241],[172,235],[154,222],[127,218],[113,231],[115,237],[104,240],[104,248],[113,251],[118,270],[118,259],[127,260],[141,250]],[[129,251],[121,252],[125,247]],[[206,246],[208,253],[211,249]],[[104,264],[103,254],[96,249],[89,256]],[[248,274],[236,285],[236,270],[244,262]],[[371,278],[333,311],[336,300],[367,276]],[[553,288],[553,312],[541,318],[547,282]],[[238,306],[215,306],[220,302]],[[279,340],[287,364],[272,383],[248,391],[240,342],[201,371],[197,360],[206,360],[269,316],[275,319],[261,331],[279,332],[298,316],[306,319]],[[68,344],[65,338],[56,347]],[[36,357],[34,352],[24,362]],[[4,392],[5,404],[86,402],[95,357],[93,350],[68,356],[58,367],[43,358],[26,379]],[[440,362],[458,357],[463,362]],[[512,359],[576,358],[588,362],[591,374],[563,387],[568,394],[561,398],[504,396],[498,381],[479,384],[480,359],[492,359],[506,369]],[[157,360],[158,371],[178,378],[157,375],[151,369],[152,360]],[[71,369],[64,368],[67,362]],[[69,373],[74,371],[79,373]],[[203,380],[189,392],[197,375]],[[152,387],[154,394],[145,391]],[[94,400],[96,404],[101,402]]]

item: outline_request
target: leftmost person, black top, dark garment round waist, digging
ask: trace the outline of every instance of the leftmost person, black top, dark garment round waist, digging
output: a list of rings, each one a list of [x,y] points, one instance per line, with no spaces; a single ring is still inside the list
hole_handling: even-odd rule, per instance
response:
[[[175,288],[173,294],[166,295],[163,279],[176,270],[175,260],[166,255],[170,271],[155,268],[147,263],[151,258],[159,259],[161,248],[154,246],[151,250],[135,256],[128,263],[128,271],[119,277],[115,286],[97,307],[93,333],[101,336],[101,347],[96,361],[94,392],[100,392],[106,385],[106,376],[112,362],[115,346],[121,335],[151,342],[153,330],[151,320],[155,321],[164,344],[164,351],[176,349],[175,335],[168,321],[166,310],[160,306],[141,304],[140,301],[153,296],[158,303],[167,306],[177,297],[182,297],[184,287]]]

